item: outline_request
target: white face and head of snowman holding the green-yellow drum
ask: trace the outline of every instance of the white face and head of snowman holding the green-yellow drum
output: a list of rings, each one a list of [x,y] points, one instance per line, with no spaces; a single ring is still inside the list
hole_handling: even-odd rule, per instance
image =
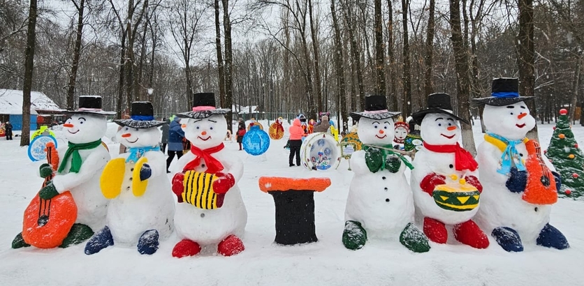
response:
[[[432,145],[454,145],[460,139],[460,125],[454,116],[429,113],[421,123],[420,136]]]

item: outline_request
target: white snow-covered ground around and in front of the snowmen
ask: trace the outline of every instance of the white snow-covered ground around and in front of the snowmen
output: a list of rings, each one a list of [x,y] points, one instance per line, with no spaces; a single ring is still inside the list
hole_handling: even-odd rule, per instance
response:
[[[262,122],[267,129],[267,122]],[[108,128],[107,137],[116,126]],[[552,125],[539,126],[545,149]],[[287,129],[287,128],[286,128]],[[574,126],[584,146],[584,128]],[[59,137],[59,135],[57,135]],[[476,143],[483,141],[480,126]],[[235,151],[245,162],[239,183],[249,213],[246,249],[240,255],[203,255],[176,259],[170,252],[173,235],[157,253],[140,255],[135,248],[111,247],[85,255],[85,243],[66,249],[10,249],[22,229],[22,213],[38,192],[41,163],[31,163],[19,138],[0,138],[0,285],[584,285],[584,203],[562,199],[551,223],[567,236],[571,248],[552,250],[526,246],[523,253],[506,253],[491,239],[486,250],[458,244],[432,243],[429,253],[415,254],[397,241],[370,241],[362,250],[341,243],[344,206],[353,173],[343,160],[335,171],[309,171],[288,166],[285,140],[272,141],[263,157]],[[59,144],[64,144],[59,139]],[[117,144],[109,142],[117,155]],[[226,144],[237,150],[235,142]],[[258,188],[260,176],[328,176],[332,186],[314,195],[319,242],[277,246],[272,197]],[[407,174],[409,176],[409,174]]]

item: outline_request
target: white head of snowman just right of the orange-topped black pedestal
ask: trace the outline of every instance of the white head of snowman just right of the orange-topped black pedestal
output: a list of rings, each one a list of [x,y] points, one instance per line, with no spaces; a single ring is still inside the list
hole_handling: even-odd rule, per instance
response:
[[[392,144],[393,135],[395,135],[393,119],[370,119],[367,117],[361,117],[359,119],[357,135],[363,144],[374,146]]]

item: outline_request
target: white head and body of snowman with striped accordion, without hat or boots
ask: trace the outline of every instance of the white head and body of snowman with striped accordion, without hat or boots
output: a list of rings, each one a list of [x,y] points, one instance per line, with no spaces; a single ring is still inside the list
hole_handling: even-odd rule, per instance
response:
[[[183,119],[183,122],[187,119]],[[209,149],[221,144],[222,135],[226,133],[226,121],[221,115],[212,115],[207,119],[188,119],[183,124],[187,140],[199,149]],[[204,130],[204,134],[202,134]],[[200,245],[213,245],[235,234],[242,236],[247,224],[247,210],[241,197],[238,182],[243,174],[243,162],[231,151],[221,149],[212,153],[224,169],[220,172],[233,174],[235,185],[225,193],[224,203],[217,209],[199,209],[183,202],[177,204],[175,213],[175,228],[180,239],[189,239]],[[186,153],[177,161],[174,172],[183,172],[187,163],[195,160],[194,153]],[[203,158],[192,169],[196,172],[206,172],[207,163]]]

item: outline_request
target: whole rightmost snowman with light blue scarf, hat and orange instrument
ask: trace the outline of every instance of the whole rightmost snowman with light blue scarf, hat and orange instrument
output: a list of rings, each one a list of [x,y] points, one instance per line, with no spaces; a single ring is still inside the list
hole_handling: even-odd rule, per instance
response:
[[[516,78],[495,79],[491,97],[474,99],[477,105],[485,105],[483,122],[487,129],[476,156],[483,183],[476,222],[509,252],[522,251],[524,243],[569,247],[564,234],[549,223],[560,176],[552,175],[543,158],[527,149],[534,142],[525,135],[535,126],[525,104],[529,99],[532,97],[519,96]]]

